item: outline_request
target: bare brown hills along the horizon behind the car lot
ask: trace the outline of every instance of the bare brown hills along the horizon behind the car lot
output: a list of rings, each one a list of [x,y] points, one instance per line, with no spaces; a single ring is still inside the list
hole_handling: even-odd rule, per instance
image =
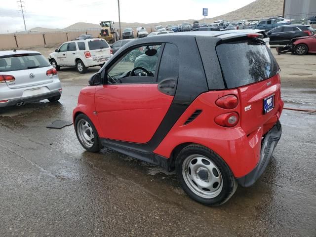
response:
[[[241,7],[235,11],[226,13],[224,15],[216,16],[213,18],[206,18],[206,23],[214,22],[215,20],[224,19],[224,20],[241,20],[241,19],[262,19],[268,16],[278,16],[282,15],[283,12],[283,0],[256,0],[251,2],[244,7]],[[138,22],[121,22],[121,27],[137,27],[143,26],[146,28],[154,28],[157,25],[168,25],[168,24],[180,24],[182,22],[193,22],[193,21],[203,22],[204,19],[186,19],[186,20],[177,20],[177,21],[164,21],[164,22],[157,22],[151,24],[144,24]],[[51,31],[71,31],[71,30],[78,30],[78,29],[91,29],[91,28],[99,28],[99,24],[93,23],[85,23],[85,22],[78,22],[71,26],[68,26],[64,29],[48,29],[48,28],[41,28],[36,27],[31,29],[31,31],[38,31],[38,32],[51,32]],[[115,24],[115,28],[118,28],[118,22]]]

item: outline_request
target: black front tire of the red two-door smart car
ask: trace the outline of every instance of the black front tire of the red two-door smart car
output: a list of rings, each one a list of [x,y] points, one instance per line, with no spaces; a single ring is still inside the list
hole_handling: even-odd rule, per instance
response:
[[[84,141],[82,141],[81,135],[79,134],[79,130],[80,128],[78,126],[81,125],[81,122],[85,121],[89,124],[89,127],[92,129],[93,136],[94,136],[94,140],[93,140],[93,145],[92,146],[87,146],[86,143]],[[76,118],[75,118],[75,131],[76,131],[76,135],[78,138],[78,141],[80,143],[80,145],[87,150],[88,152],[98,152],[100,151],[101,144],[99,141],[99,135],[97,130],[95,129],[95,126],[93,125],[92,121],[90,120],[90,118],[88,118],[86,115],[84,114],[79,114]]]

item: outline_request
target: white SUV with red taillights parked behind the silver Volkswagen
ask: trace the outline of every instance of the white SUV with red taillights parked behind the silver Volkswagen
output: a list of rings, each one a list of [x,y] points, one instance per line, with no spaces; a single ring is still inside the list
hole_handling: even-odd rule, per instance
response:
[[[59,71],[60,67],[76,67],[86,73],[88,67],[102,67],[112,56],[112,49],[103,39],[73,40],[63,43],[49,54],[50,64]]]

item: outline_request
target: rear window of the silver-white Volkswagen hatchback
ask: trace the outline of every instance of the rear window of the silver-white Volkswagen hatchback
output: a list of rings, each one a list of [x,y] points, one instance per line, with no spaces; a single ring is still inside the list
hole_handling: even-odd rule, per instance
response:
[[[50,64],[41,54],[21,54],[21,56],[0,57],[0,73],[49,66]]]

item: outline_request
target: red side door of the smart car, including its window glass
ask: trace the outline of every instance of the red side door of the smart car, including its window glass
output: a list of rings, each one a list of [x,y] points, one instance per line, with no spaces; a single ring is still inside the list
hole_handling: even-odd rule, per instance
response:
[[[134,50],[146,53],[130,62]],[[159,65],[162,51],[164,58]],[[147,143],[158,129],[175,94],[179,73],[178,49],[170,43],[138,45],[127,49],[111,64],[102,72],[108,83],[97,86],[95,90],[95,107],[102,134],[108,139]],[[136,67],[140,70],[135,71],[135,76],[130,75]]]

